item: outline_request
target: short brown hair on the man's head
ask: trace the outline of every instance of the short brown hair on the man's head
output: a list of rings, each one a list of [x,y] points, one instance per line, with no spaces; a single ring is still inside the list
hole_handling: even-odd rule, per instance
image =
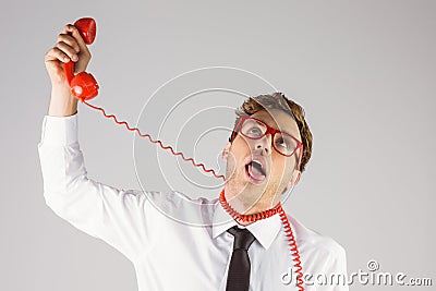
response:
[[[234,121],[233,129],[237,126],[242,116],[252,116],[264,109],[281,109],[295,120],[303,143],[303,157],[300,165],[300,171],[303,172],[312,156],[312,133],[304,119],[304,109],[300,105],[288,99],[284,94],[276,92],[271,95],[258,95],[246,99],[241,107],[234,111],[237,120]],[[233,135],[230,136],[229,142],[233,142],[232,136]]]

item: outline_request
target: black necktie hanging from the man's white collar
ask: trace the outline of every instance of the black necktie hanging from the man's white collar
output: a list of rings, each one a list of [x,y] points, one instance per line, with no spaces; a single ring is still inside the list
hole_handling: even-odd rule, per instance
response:
[[[232,227],[228,232],[234,237],[234,243],[226,291],[249,291],[250,258],[247,251],[255,238],[247,229],[240,229],[238,226]]]

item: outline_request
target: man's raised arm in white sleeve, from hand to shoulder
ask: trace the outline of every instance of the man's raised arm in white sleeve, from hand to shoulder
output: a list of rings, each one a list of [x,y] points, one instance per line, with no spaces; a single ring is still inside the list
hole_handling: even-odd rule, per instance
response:
[[[38,144],[46,204],[77,229],[101,239],[135,262],[153,237],[154,209],[142,191],[118,190],[87,177],[77,141],[77,99],[71,95],[62,62],[84,71],[90,53],[69,24],[46,57],[51,99]]]

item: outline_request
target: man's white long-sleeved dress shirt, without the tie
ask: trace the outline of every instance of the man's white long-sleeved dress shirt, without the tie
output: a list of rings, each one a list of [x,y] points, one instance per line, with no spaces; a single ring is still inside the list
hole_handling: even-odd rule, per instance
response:
[[[191,199],[177,192],[119,190],[87,178],[77,141],[77,113],[46,116],[38,151],[46,204],[75,228],[101,239],[133,264],[140,291],[226,290],[235,226],[217,198]],[[193,203],[195,202],[195,203]],[[159,206],[159,207],[156,207]],[[191,216],[205,227],[168,218]],[[288,215],[303,272],[347,275],[343,247]],[[298,290],[289,282],[292,256],[279,215],[246,227],[256,238],[249,250],[250,290]],[[312,279],[314,280],[314,279]],[[344,291],[347,284],[305,286]]]

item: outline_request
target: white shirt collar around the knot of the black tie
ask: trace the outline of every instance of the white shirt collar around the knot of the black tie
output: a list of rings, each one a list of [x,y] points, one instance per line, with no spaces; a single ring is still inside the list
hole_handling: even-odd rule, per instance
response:
[[[213,223],[213,239],[215,240],[222,232],[226,232],[229,228],[239,226],[240,228],[246,228],[256,238],[256,240],[266,250],[272,244],[274,239],[277,237],[281,229],[281,220],[279,214],[271,217],[257,220],[246,227],[240,226],[223,208],[222,205],[217,203],[217,207],[214,213]]]

